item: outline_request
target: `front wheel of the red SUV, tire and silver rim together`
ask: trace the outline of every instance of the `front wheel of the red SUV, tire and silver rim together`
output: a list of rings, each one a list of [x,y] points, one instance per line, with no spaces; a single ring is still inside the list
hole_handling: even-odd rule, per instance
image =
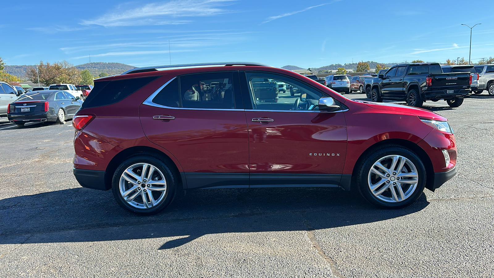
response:
[[[425,167],[410,149],[400,145],[381,146],[362,159],[357,176],[359,191],[381,208],[403,208],[412,204],[425,187]]]

